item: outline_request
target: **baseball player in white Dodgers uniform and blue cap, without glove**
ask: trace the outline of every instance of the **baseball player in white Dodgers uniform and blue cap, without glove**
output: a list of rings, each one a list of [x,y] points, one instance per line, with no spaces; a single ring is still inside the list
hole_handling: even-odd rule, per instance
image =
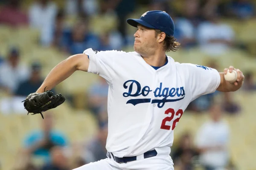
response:
[[[218,73],[167,56],[180,44],[165,11],[147,11],[127,23],[138,28],[134,52],[86,49],[56,65],[37,91],[52,89],[78,70],[98,74],[109,84],[107,158],[75,170],[174,170],[169,156],[173,133],[189,103],[243,84],[242,72],[232,66]],[[224,74],[233,70],[236,82],[227,82]]]

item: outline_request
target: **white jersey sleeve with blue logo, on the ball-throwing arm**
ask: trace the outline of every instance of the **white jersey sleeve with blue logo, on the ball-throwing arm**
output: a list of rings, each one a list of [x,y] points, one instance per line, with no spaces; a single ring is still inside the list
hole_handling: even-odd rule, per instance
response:
[[[216,91],[221,83],[221,77],[217,70],[202,65],[186,64],[186,66],[189,72],[191,101]]]

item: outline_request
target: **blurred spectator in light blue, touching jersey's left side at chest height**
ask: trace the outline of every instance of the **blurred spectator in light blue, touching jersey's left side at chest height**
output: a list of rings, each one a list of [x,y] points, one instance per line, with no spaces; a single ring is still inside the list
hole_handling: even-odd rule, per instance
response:
[[[88,91],[89,107],[97,116],[102,106],[107,105],[108,83],[102,77],[93,83]]]

